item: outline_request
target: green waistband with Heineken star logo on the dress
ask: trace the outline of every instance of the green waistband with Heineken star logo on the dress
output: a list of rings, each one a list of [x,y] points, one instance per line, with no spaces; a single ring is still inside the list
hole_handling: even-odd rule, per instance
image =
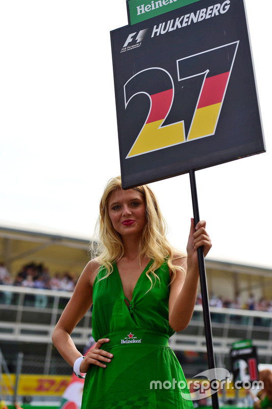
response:
[[[157,331],[149,330],[123,330],[111,332],[103,338],[109,338],[108,343],[103,344],[102,349],[105,351],[119,346],[139,346],[139,345],[156,345],[168,347],[169,335]]]

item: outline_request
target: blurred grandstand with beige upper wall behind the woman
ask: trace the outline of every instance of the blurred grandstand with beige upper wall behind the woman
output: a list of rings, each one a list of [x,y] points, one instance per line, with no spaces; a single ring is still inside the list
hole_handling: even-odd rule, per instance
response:
[[[89,260],[88,246],[84,239],[0,228],[2,272],[6,268],[11,274],[0,286],[0,346],[9,373],[16,372],[22,352],[22,374],[63,378],[71,374],[52,345],[51,333],[72,287],[52,289],[48,283],[59,274],[75,284]],[[32,269],[32,275],[36,271],[37,276],[47,276],[47,287],[14,285],[18,273],[26,273],[23,266]],[[252,339],[259,362],[272,364],[272,271],[214,260],[206,261],[206,270],[216,366],[230,369],[230,349],[240,339]],[[83,350],[91,336],[91,311],[72,336]],[[186,377],[208,369],[201,297],[190,325],[170,338],[170,347]]]

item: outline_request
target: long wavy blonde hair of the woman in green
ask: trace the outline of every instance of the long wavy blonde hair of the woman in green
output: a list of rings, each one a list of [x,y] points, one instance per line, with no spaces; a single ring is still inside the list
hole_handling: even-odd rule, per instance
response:
[[[118,261],[124,254],[124,247],[121,235],[114,230],[109,212],[108,202],[112,192],[122,189],[121,177],[117,176],[109,180],[100,201],[100,217],[97,221],[99,243],[97,252],[99,256],[97,261],[106,268],[107,278],[113,271],[113,263]],[[156,269],[159,268],[166,260],[169,269],[172,271],[172,280],[175,279],[177,271],[184,268],[172,264],[174,259],[185,258],[186,255],[177,252],[170,245],[166,238],[166,223],[161,214],[158,200],[148,185],[142,185],[133,188],[143,195],[145,201],[146,224],[142,231],[142,237],[139,243],[139,260],[143,256],[153,260],[146,276],[151,282],[150,289],[155,285],[159,277]],[[155,280],[152,280],[152,277]],[[171,280],[171,281],[172,281]]]

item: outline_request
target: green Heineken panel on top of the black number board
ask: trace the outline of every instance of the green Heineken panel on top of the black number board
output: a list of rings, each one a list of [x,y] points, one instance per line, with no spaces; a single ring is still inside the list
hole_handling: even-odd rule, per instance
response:
[[[199,1],[200,0],[129,0],[128,11],[130,24],[135,24],[139,21],[144,21],[148,18],[159,16],[160,14],[179,9],[180,7]]]

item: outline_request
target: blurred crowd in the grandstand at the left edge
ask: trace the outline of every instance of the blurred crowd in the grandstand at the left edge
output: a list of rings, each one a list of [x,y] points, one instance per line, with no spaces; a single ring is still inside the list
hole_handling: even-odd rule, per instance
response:
[[[68,271],[56,272],[53,276],[42,264],[22,266],[12,278],[4,263],[0,263],[0,284],[47,290],[73,291],[78,277]]]

